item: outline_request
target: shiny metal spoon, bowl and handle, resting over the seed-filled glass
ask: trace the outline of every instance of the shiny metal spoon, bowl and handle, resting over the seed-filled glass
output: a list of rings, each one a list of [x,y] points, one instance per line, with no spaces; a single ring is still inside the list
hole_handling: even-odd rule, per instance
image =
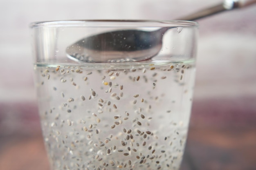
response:
[[[222,11],[242,8],[256,0],[225,0],[179,20],[197,20]],[[67,56],[77,62],[130,62],[149,60],[162,48],[164,33],[173,27],[156,31],[121,30],[83,38],[67,47]]]

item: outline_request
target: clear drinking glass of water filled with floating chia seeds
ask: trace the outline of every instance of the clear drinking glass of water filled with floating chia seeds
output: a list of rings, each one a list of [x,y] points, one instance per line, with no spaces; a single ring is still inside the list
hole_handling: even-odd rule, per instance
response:
[[[161,50],[147,60],[82,62],[67,55],[71,44],[91,35],[164,27],[170,29],[163,33]],[[35,22],[31,33],[52,170],[179,169],[193,97],[197,23]],[[106,57],[104,51],[100,57]]]

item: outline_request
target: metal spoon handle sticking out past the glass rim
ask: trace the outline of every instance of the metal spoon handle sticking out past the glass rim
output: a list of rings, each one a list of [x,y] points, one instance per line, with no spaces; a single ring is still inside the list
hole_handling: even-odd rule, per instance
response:
[[[243,8],[255,3],[256,0],[224,0],[224,2],[222,2],[221,4],[217,4],[213,7],[192,13],[191,15],[179,18],[178,20],[197,20],[222,11]]]

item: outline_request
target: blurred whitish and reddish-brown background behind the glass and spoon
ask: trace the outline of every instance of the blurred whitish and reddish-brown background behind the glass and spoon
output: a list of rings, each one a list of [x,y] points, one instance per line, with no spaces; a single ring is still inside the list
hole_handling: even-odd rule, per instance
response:
[[[29,23],[172,20],[222,0],[0,0],[0,170],[48,170]],[[256,5],[198,20],[197,77],[182,170],[255,170]]]

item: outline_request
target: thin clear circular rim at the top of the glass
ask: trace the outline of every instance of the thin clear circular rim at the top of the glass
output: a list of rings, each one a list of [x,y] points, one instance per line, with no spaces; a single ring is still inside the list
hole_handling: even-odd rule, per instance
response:
[[[123,25],[120,25],[122,23]],[[35,27],[198,27],[198,22],[185,20],[55,20],[29,24]]]

